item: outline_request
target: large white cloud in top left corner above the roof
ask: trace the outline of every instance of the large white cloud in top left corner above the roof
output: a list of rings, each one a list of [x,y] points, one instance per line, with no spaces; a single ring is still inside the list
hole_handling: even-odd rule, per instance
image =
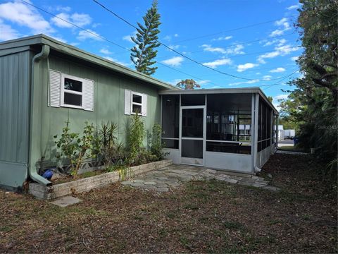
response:
[[[30,28],[33,33],[54,32],[49,22],[35,8],[18,0],[0,4],[0,18]]]

